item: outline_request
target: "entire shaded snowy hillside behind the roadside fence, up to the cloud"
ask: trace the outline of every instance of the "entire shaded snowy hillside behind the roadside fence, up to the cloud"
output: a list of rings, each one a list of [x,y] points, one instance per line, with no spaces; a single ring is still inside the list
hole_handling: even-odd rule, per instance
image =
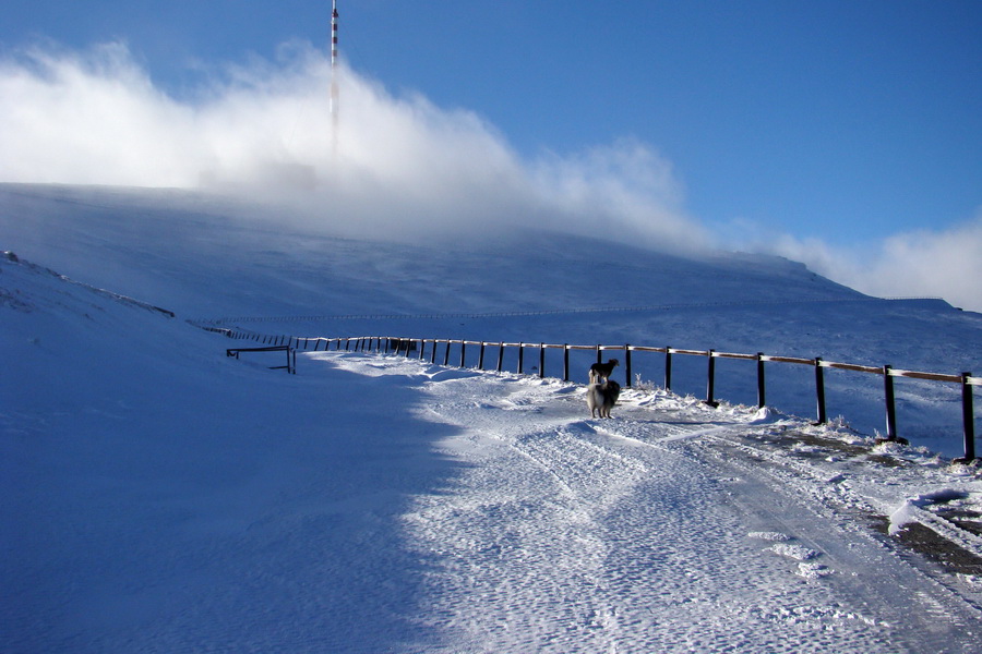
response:
[[[498,239],[466,230],[426,243],[339,239],[338,220],[325,207],[323,225],[301,225],[276,207],[188,191],[0,185],[0,247],[180,319],[303,337],[632,343],[982,371],[982,315],[871,299],[777,257],[685,257],[531,226]],[[604,307],[622,311],[577,311]],[[678,359],[673,388],[705,393],[705,367]],[[634,373],[660,383],[662,363],[638,358]],[[718,397],[755,402],[747,364],[721,362],[718,375]],[[771,403],[814,415],[811,371],[768,375]],[[829,415],[884,431],[881,378],[834,372],[827,385]],[[960,453],[958,388],[903,380],[897,393],[902,436]]]

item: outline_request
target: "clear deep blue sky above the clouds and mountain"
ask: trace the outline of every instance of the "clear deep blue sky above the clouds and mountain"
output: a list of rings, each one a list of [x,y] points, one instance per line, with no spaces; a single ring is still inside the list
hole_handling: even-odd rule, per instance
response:
[[[478,114],[520,157],[643,143],[685,214],[741,246],[790,239],[794,255],[817,240],[854,256],[982,221],[978,0],[338,9],[358,74]],[[327,0],[8,0],[0,23],[4,56],[124,40],[175,98],[193,98],[202,71],[275,60],[290,39],[326,50],[328,35]]]

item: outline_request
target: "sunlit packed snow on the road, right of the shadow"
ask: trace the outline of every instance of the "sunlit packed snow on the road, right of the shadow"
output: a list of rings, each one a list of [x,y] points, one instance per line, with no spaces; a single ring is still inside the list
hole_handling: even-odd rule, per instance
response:
[[[960,597],[702,440],[753,429],[752,413],[628,391],[590,420],[582,386],[318,356],[422,368],[420,416],[457,427],[440,447],[468,465],[404,518],[430,565],[429,651],[974,651],[980,614]]]

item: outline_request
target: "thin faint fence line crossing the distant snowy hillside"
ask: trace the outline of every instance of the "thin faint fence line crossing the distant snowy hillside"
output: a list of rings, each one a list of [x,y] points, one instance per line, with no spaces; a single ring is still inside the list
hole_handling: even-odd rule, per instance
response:
[[[721,306],[764,306],[771,304],[814,304],[838,302],[901,302],[934,300],[944,302],[943,298],[911,296],[911,298],[814,298],[804,300],[773,300],[757,302],[705,302],[705,303],[678,303],[678,304],[651,304],[647,306],[603,306],[580,308],[554,308],[542,311],[505,311],[491,313],[460,312],[460,313],[427,313],[427,314],[337,314],[337,315],[309,315],[309,316],[239,316],[225,317],[211,320],[192,320],[200,327],[220,326],[229,323],[303,323],[326,320],[395,320],[395,319],[440,319],[440,318],[508,318],[523,316],[555,316],[566,314],[589,313],[634,313],[643,311],[672,311],[679,308],[705,308]]]

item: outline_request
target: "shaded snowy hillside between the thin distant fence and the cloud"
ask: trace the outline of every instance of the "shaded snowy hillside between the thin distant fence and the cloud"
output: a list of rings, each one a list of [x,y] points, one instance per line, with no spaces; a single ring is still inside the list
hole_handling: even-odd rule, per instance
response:
[[[406,244],[333,238],[343,217],[330,208],[323,226],[304,226],[275,207],[185,191],[2,184],[0,198],[8,249],[209,318],[861,298],[777,257],[697,261],[534,227]]]

